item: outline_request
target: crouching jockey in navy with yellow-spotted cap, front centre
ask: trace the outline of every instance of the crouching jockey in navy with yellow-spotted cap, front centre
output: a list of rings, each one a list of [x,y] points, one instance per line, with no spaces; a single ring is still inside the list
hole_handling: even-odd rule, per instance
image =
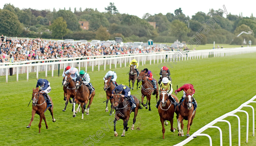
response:
[[[136,104],[135,104],[133,98],[130,96],[131,92],[130,92],[130,88],[128,86],[123,85],[123,84],[116,86],[115,89],[112,91],[112,97],[111,98],[113,98],[113,96],[114,96],[114,91],[115,91],[116,94],[119,93],[119,92],[122,92],[121,96],[126,98],[126,99],[129,99],[133,103],[132,106],[136,107]]]

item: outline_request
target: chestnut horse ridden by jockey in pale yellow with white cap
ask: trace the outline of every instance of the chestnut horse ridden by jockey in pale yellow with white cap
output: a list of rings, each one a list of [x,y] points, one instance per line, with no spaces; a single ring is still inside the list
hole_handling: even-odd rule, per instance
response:
[[[167,89],[160,89],[160,95],[159,95],[159,100],[160,100],[160,105],[158,106],[158,113],[160,116],[160,121],[162,123],[162,133],[163,133],[163,139],[165,139],[165,126],[164,126],[164,121],[168,120],[170,121],[171,124],[171,132],[174,132],[176,128],[173,128],[173,116],[174,112],[176,113],[176,119],[178,121],[179,118],[179,108],[177,106],[174,108],[174,105],[168,98],[168,93],[166,92]],[[171,94],[172,97],[175,98],[176,102],[178,103],[179,100],[178,98]],[[165,121],[165,124],[168,125],[167,121]]]

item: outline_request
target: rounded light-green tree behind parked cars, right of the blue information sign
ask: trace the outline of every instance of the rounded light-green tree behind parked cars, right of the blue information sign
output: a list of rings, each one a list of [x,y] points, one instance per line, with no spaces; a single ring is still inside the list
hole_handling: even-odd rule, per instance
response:
[[[182,40],[185,36],[187,36],[189,29],[185,23],[181,22],[180,20],[174,20],[171,23],[170,32],[171,36],[176,36],[177,39]]]

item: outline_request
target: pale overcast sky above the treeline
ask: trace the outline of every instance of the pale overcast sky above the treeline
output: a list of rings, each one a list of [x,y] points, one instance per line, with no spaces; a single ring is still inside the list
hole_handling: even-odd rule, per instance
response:
[[[116,8],[120,13],[128,13],[130,15],[136,15],[140,18],[145,13],[150,13],[151,15],[162,13],[166,14],[168,12],[174,13],[175,9],[182,9],[182,12],[187,16],[191,18],[192,15],[194,15],[196,12],[202,11],[204,13],[208,13],[209,9],[222,9],[223,5],[225,5],[227,12],[231,12],[233,15],[239,15],[240,12],[243,13],[243,16],[250,17],[253,13],[254,16],[256,16],[256,9],[255,9],[255,3],[253,1],[249,0],[242,0],[242,1],[234,1],[234,0],[214,0],[214,1],[199,1],[199,0],[62,0],[62,1],[56,1],[56,0],[34,0],[34,1],[28,1],[28,0],[12,0],[12,1],[4,1],[0,3],[0,8],[2,9],[4,4],[8,2],[13,4],[15,7],[19,7],[20,9],[23,8],[32,8],[37,10],[42,9],[50,9],[51,11],[53,8],[55,8],[57,11],[60,9],[66,8],[66,10],[71,8],[72,11],[74,11],[74,8],[76,7],[76,10],[79,10],[81,7],[82,10],[86,8],[97,8],[100,12],[105,12],[105,7],[109,5],[109,2],[114,2],[116,5]],[[224,15],[225,16],[225,15]]]

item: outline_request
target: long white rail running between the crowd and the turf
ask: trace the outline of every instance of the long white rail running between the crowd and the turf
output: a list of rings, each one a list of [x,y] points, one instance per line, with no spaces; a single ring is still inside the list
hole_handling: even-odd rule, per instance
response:
[[[117,64],[126,67],[132,59],[136,59],[140,65],[145,65],[146,61],[149,61],[151,65],[153,63],[170,63],[169,59],[175,61],[191,60],[191,59],[202,59],[208,57],[224,57],[236,54],[245,54],[256,52],[256,47],[243,47],[243,48],[227,48],[227,49],[212,49],[212,50],[197,50],[189,51],[187,54],[183,54],[177,51],[168,52],[155,52],[147,54],[124,54],[124,55],[105,55],[105,56],[88,56],[88,57],[73,57],[73,58],[61,58],[61,59],[45,59],[45,60],[33,60],[33,61],[23,61],[14,63],[0,63],[0,76],[6,76],[6,82],[8,82],[8,70],[13,68],[13,75],[16,73],[17,82],[19,81],[19,74],[27,73],[27,80],[29,79],[30,72],[36,72],[36,78],[38,79],[38,72],[45,71],[45,77],[47,77],[47,72],[56,69],[64,69],[66,66],[77,67],[80,71],[81,67],[85,67],[87,72],[87,67],[91,66],[91,71],[94,71],[94,66],[98,66],[98,71],[100,71],[100,66],[104,65],[104,71],[106,70],[106,65],[109,65],[111,70],[112,64],[117,68]],[[174,54],[179,53],[179,60],[175,58]],[[177,57],[177,55],[176,55]],[[13,64],[13,65],[10,65]],[[62,71],[60,71],[62,73]]]

